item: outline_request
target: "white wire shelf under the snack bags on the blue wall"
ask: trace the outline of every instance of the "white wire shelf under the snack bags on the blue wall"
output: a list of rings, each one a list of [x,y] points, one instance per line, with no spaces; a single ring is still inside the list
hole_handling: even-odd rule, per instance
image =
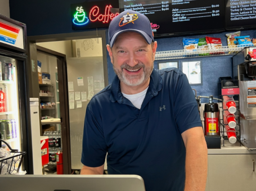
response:
[[[241,51],[246,46],[223,46],[218,49],[204,48],[194,49],[194,51],[187,51],[186,49],[177,50],[177,51],[162,51],[155,53],[155,60],[168,60],[168,59],[177,59],[177,58],[197,58],[197,57],[209,57],[209,56],[226,56],[233,55]],[[253,44],[251,45],[253,46]]]

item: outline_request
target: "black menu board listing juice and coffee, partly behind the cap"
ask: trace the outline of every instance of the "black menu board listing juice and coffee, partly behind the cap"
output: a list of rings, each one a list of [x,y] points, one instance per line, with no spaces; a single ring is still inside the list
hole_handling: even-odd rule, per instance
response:
[[[145,14],[155,37],[183,35],[202,31],[223,31],[223,0],[120,0],[120,11],[133,10]]]

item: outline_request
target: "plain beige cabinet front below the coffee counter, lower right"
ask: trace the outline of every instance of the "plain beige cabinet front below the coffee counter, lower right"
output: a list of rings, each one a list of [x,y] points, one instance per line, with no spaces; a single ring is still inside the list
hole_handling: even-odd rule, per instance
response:
[[[256,154],[208,154],[209,189],[235,191],[256,189]]]

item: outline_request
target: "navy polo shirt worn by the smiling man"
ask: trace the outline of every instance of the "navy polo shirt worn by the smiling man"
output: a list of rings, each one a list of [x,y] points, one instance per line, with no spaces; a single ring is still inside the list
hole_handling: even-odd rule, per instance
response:
[[[117,76],[89,102],[82,163],[109,174],[142,176],[146,191],[183,191],[186,148],[181,134],[202,126],[195,95],[178,69],[153,70],[141,109],[123,96]]]

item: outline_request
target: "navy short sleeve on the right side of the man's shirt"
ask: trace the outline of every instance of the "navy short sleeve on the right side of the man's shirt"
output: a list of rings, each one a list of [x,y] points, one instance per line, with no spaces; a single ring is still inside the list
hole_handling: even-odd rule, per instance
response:
[[[180,133],[202,126],[195,95],[185,74],[179,74],[174,92],[174,115]]]

